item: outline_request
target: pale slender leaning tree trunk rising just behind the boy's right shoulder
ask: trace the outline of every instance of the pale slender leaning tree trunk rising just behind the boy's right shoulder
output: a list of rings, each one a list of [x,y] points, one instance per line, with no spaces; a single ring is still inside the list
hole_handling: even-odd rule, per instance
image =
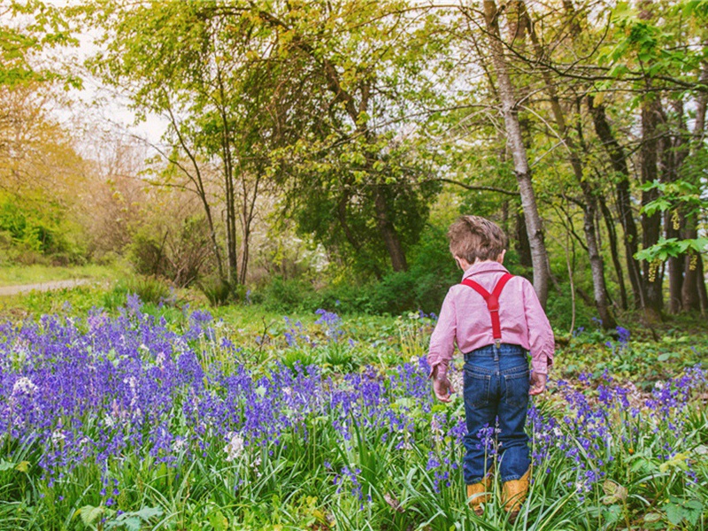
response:
[[[484,0],[484,14],[492,62],[496,70],[499,99],[501,100],[504,114],[506,140],[509,142],[512,151],[514,173],[516,173],[516,179],[519,183],[521,206],[526,220],[531,259],[534,264],[534,289],[541,304],[545,306],[550,280],[548,252],[543,241],[543,225],[536,206],[534,188],[531,184],[531,170],[528,166],[526,149],[521,136],[521,128],[519,127],[512,80],[509,77],[506,58],[504,58],[504,46],[499,34],[497,19],[499,12],[496,9],[494,0]]]

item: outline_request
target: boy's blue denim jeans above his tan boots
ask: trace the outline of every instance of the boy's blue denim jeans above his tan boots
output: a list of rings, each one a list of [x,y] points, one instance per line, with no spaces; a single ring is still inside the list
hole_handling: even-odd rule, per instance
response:
[[[502,481],[518,480],[526,473],[531,463],[524,431],[528,376],[527,350],[519,345],[489,345],[465,355],[467,435],[462,469],[467,485],[479,483],[489,472],[496,451]]]

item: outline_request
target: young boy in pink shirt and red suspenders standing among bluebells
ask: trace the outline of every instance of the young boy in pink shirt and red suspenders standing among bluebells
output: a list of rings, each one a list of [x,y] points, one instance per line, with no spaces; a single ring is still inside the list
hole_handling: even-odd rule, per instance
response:
[[[516,519],[530,476],[524,431],[528,396],[539,395],[546,387],[555,348],[553,331],[531,283],[502,266],[507,239],[501,228],[488,219],[463,216],[450,226],[448,239],[450,252],[465,273],[462,283],[448,291],[430,338],[427,361],[433,389],[439,400],[450,402],[454,389],[447,371],[457,342],[465,355],[467,498],[481,515],[481,504],[489,497],[491,463],[478,434],[498,422],[502,503]]]

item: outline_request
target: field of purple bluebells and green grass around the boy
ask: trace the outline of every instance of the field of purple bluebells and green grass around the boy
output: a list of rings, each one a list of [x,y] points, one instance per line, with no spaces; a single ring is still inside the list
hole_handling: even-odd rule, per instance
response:
[[[358,335],[319,311],[258,333],[203,311],[155,317],[129,297],[118,313],[7,322],[0,529],[708,527],[700,366],[651,389],[609,369],[557,375],[529,411],[535,480],[519,519],[499,485],[470,512],[461,398],[437,404],[427,382],[434,319]],[[633,348],[626,329],[607,341],[598,358]],[[494,458],[495,428],[478,437]]]

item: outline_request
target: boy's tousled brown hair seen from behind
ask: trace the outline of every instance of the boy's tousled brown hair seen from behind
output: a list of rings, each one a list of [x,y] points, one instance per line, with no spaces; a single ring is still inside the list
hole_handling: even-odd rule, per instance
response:
[[[496,260],[506,249],[507,238],[496,223],[479,216],[462,216],[448,229],[452,256],[473,264],[480,260]]]

